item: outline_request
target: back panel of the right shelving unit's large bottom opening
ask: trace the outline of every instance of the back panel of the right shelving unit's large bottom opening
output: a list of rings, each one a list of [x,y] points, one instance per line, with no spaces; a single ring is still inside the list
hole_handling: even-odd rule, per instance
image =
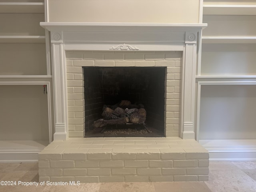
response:
[[[199,139],[255,139],[256,86],[202,86]]]

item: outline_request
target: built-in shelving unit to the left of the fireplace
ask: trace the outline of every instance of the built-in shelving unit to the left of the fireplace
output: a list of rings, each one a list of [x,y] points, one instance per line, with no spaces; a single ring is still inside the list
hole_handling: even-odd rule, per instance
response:
[[[44,0],[0,0],[0,162],[31,162],[52,141]]]

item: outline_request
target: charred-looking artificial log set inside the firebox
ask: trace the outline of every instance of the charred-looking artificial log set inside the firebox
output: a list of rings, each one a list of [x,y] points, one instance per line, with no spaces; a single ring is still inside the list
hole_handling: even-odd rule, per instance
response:
[[[143,104],[122,100],[115,105],[104,105],[102,110],[102,118],[94,121],[95,128],[118,124],[145,124],[146,110]]]

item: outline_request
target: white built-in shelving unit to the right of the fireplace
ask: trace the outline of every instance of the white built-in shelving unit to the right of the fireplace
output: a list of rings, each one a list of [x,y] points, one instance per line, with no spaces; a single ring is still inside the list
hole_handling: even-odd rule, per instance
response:
[[[204,0],[197,140],[211,160],[256,160],[256,2]]]

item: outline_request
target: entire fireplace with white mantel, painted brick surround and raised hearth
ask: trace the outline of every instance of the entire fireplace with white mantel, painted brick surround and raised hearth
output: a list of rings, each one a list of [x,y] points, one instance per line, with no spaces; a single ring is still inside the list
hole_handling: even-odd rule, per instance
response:
[[[41,26],[50,31],[55,131],[39,154],[40,181],[208,180],[209,154],[195,140],[194,116],[197,37],[207,24]],[[97,92],[104,97],[95,101]],[[100,118],[92,110],[120,100],[142,103],[146,125],[161,136],[84,138]]]

